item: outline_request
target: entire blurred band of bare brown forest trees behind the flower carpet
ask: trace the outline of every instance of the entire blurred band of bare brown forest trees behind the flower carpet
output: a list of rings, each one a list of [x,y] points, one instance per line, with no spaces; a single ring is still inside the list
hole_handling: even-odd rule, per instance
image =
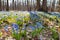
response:
[[[60,12],[60,0],[0,0],[0,11]]]

